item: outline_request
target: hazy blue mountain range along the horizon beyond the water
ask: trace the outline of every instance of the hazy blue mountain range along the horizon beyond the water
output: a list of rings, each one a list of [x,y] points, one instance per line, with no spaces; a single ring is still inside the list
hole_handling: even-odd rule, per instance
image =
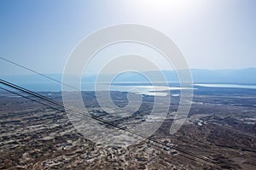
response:
[[[162,71],[166,76],[168,82],[178,82],[177,74],[175,71]],[[149,75],[157,75],[157,71],[148,71]],[[247,69],[230,69],[230,70],[203,70],[192,69],[191,74],[194,83],[236,83],[236,84],[256,84],[256,68]],[[46,76],[52,77],[61,82],[61,74],[47,74]],[[104,75],[103,77],[108,77]],[[57,83],[53,82],[40,75],[22,75],[22,76],[9,76],[1,77],[9,82],[19,84],[45,84]],[[145,82],[145,78],[131,73],[125,73],[115,79],[115,82]],[[95,82],[96,76],[83,77],[83,82]]]

